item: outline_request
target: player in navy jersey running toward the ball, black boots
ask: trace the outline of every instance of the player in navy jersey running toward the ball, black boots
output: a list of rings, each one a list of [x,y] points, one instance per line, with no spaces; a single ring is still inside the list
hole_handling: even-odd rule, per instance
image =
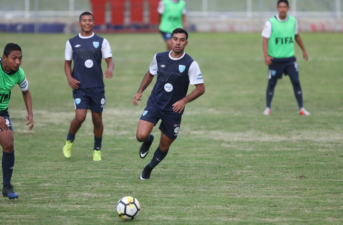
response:
[[[185,53],[187,39],[186,30],[177,28],[173,31],[170,39],[172,50],[154,56],[137,94],[133,96],[133,105],[138,106],[137,101],[141,100],[143,91],[157,75],[156,84],[138,122],[136,136],[139,142],[143,142],[139,156],[143,159],[149,152],[154,140],[150,133],[159,119],[162,120],[159,126],[161,139],[151,162],[143,169],[141,180],[149,179],[152,169],[167,156],[170,144],[179,133],[185,105],[205,92],[198,63]],[[187,95],[189,84],[194,84],[196,88]]]

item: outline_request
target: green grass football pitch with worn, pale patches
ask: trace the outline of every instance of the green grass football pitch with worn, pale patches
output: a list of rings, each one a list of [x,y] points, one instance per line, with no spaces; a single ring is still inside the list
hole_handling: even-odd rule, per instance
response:
[[[1,199],[0,224],[343,223],[342,33],[301,34],[310,56],[304,62],[296,47],[308,117],[298,115],[288,77],[276,86],[272,115],[262,115],[268,74],[260,34],[190,33],[186,52],[199,63],[206,92],[186,105],[180,135],[145,181],[138,177],[160,132],[156,126],[143,160],[135,132],[153,85],[138,107],[132,96],[154,54],[164,51],[162,37],[102,35],[115,69],[105,81],[103,160],[94,162],[90,114],[72,157],[62,154],[74,117],[63,67],[73,35],[0,35],[2,49],[9,42],[23,49],[35,125],[31,132],[25,126],[24,101],[14,87],[12,184],[19,199]],[[142,207],[132,222],[116,213],[126,195]]]

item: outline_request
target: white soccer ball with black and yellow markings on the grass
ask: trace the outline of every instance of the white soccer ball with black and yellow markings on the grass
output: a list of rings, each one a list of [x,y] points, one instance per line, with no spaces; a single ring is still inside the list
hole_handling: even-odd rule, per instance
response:
[[[125,220],[132,220],[139,215],[141,205],[131,196],[122,197],[117,203],[118,216]]]

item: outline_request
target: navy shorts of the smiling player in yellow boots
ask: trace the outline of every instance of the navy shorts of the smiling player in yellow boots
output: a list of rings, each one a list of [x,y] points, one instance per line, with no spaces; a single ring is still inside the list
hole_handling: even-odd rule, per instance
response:
[[[78,88],[73,90],[74,106],[76,109],[90,109],[92,112],[105,111],[105,88]]]

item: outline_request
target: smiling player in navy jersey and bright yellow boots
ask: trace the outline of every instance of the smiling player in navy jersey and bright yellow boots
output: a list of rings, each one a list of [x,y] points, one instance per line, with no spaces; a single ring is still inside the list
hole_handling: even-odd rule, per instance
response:
[[[92,32],[94,26],[93,15],[84,12],[80,15],[79,26],[81,33],[69,39],[66,44],[64,70],[69,86],[73,89],[75,118],[71,121],[63,154],[70,158],[75,134],[86,119],[87,109],[92,111],[94,125],[93,160],[101,160],[101,142],[104,131],[102,112],[105,111],[105,85],[101,69],[102,57],[106,60],[107,70],[104,76],[113,76],[114,63],[109,43],[103,37]],[[71,71],[71,61],[74,68]]]

